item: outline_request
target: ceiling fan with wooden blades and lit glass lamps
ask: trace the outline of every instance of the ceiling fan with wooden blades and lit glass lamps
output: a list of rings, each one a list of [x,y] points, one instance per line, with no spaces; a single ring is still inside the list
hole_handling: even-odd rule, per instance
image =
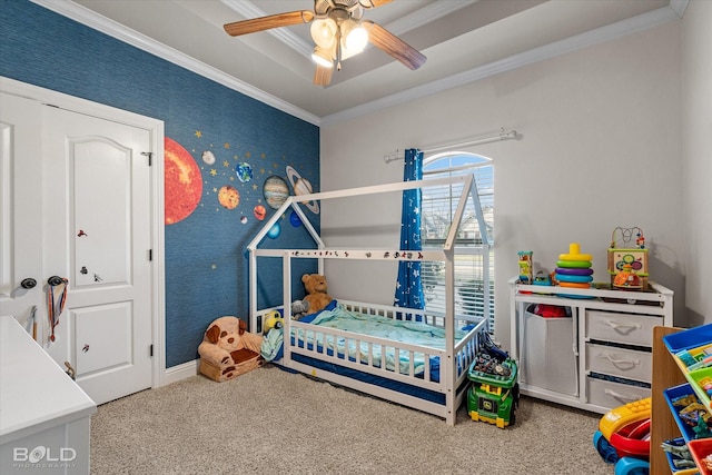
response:
[[[316,43],[312,58],[316,62],[314,83],[327,86],[334,68],[342,69],[342,60],[358,55],[370,41],[411,69],[425,63],[415,48],[370,20],[364,10],[380,7],[393,0],[314,0],[314,11],[299,10],[270,14],[225,24],[225,31],[238,37],[273,28],[312,22],[312,39]]]

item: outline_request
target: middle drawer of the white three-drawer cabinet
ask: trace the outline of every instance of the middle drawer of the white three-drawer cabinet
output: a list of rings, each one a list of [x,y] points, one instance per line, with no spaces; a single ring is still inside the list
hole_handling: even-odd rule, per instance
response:
[[[586,370],[650,383],[653,358],[647,352],[586,344]]]

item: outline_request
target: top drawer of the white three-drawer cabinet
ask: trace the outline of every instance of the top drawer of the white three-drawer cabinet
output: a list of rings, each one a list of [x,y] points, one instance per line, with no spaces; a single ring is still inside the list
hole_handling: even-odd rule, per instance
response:
[[[661,316],[586,310],[586,338],[652,346],[653,327],[662,324]]]

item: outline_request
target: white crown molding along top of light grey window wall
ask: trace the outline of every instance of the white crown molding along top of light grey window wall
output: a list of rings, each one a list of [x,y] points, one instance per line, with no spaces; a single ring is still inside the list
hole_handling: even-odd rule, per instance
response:
[[[414,88],[396,92],[385,98],[376,99],[374,101],[362,103],[359,106],[333,113],[330,116],[322,117],[319,125],[332,126],[344,122],[360,116],[377,112],[382,109],[398,106],[412,100],[435,95],[437,92],[457,88],[469,82],[475,82],[491,76],[511,71],[523,66],[555,58],[557,56],[566,55],[568,52],[587,48],[594,44],[615,40],[627,34],[646,30],[649,28],[659,27],[670,21],[676,21],[682,17],[688,2],[689,0],[672,0],[671,3],[681,3],[681,6],[678,7],[682,7],[682,9],[674,9],[671,4],[670,7],[663,7],[647,13],[639,14],[637,17],[621,20],[605,27],[596,28],[594,30],[575,34],[563,40],[554,41],[543,47],[513,55],[507,58],[503,58],[501,60],[449,76],[447,78],[442,78],[422,86],[416,86]],[[684,3],[684,6],[682,6],[682,3]]]

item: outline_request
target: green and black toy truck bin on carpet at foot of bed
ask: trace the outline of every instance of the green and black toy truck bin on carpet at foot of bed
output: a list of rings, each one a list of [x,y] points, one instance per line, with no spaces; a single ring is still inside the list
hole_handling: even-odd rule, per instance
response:
[[[467,378],[467,414],[473,420],[484,420],[500,428],[514,425],[520,404],[517,367],[513,359],[498,363],[494,372],[479,370],[479,358],[469,365]]]

